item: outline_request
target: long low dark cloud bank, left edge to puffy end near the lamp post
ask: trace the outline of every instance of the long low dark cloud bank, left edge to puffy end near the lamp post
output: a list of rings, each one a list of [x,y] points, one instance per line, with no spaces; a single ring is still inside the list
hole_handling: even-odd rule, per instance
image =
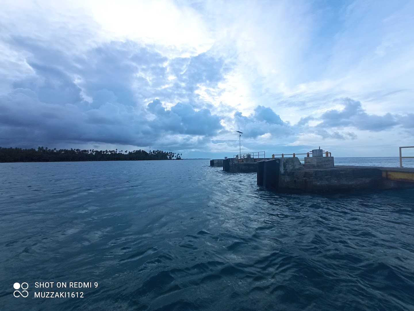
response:
[[[159,100],[149,103],[147,109],[128,108],[116,101],[83,109],[75,104],[41,102],[33,91],[16,89],[0,97],[0,109],[3,146],[65,141],[148,146],[165,143],[162,137],[167,134],[184,134],[184,146],[191,135],[212,136],[222,129],[219,117],[208,109],[195,111],[190,104],[178,103],[166,110]],[[149,113],[154,114],[153,120]]]

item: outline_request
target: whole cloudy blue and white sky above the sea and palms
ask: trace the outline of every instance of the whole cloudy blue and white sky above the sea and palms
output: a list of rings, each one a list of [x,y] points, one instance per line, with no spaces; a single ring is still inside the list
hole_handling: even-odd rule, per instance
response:
[[[2,0],[0,146],[398,156],[413,15],[412,0]]]

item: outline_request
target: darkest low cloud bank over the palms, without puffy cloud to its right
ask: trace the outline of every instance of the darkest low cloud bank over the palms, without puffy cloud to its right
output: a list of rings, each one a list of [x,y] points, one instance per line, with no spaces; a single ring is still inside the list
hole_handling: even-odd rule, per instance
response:
[[[101,106],[102,115],[106,106]],[[125,109],[113,109],[110,122],[90,122],[93,109],[83,111],[74,104],[56,105],[40,102],[28,89],[17,89],[0,97],[0,143],[2,146],[32,146],[34,143],[70,143],[99,141],[106,143],[137,143],[145,136],[134,129],[144,119],[137,114],[128,122]],[[144,126],[146,126],[144,124]]]

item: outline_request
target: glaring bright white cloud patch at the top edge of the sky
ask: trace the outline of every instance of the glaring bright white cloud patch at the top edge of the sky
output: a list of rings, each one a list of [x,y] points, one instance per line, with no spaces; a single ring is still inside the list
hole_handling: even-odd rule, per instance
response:
[[[110,39],[156,45],[175,56],[197,55],[214,42],[199,13],[173,1],[90,0],[85,7]]]

